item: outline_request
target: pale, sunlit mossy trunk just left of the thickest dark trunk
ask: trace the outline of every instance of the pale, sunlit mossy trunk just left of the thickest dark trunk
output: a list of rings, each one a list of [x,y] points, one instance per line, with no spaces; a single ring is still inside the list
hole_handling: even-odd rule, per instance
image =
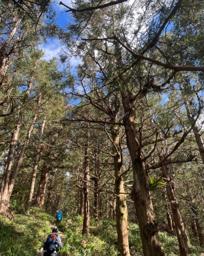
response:
[[[111,127],[111,135],[113,140],[114,154],[114,170],[115,170],[115,191],[116,191],[116,226],[118,247],[121,256],[130,256],[128,233],[129,227],[127,224],[127,203],[124,181],[122,177],[122,147],[120,138],[120,129],[114,125]]]

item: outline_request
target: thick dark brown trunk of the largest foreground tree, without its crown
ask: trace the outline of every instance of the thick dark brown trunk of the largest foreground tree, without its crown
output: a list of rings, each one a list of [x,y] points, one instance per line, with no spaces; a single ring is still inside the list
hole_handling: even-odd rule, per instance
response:
[[[127,136],[127,147],[133,166],[133,201],[138,219],[140,236],[144,256],[164,256],[158,241],[158,221],[153,210],[153,204],[150,197],[149,177],[145,169],[145,163],[142,161],[143,153],[141,145],[136,138],[136,124],[134,121],[133,110],[129,108],[129,99],[122,92],[122,102],[125,113],[125,133]]]

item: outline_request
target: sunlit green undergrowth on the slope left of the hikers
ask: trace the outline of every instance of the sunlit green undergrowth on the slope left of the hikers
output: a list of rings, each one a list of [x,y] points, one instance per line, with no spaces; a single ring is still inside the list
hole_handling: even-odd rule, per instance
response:
[[[0,256],[36,256],[51,231],[50,221],[50,215],[35,208],[28,216],[14,215],[14,221],[0,216]]]

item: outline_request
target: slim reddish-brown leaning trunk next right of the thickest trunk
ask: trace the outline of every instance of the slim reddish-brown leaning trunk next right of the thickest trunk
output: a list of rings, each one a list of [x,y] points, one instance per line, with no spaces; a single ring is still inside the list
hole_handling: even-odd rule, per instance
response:
[[[173,214],[174,224],[176,228],[177,238],[178,238],[178,245],[179,245],[179,253],[181,256],[189,256],[188,250],[188,241],[187,235],[184,227],[183,220],[181,218],[181,213],[178,208],[178,200],[175,194],[175,188],[173,180],[169,176],[169,166],[163,165],[161,167],[162,177],[164,177],[166,181],[166,188],[167,188],[167,196],[170,202],[171,211]]]

